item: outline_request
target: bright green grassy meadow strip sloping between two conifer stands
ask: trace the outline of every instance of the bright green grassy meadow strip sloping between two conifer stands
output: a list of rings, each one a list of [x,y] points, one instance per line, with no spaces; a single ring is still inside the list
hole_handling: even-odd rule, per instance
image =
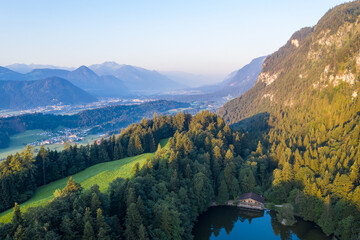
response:
[[[168,139],[161,140],[161,146],[165,147]],[[165,147],[166,148],[166,147]],[[127,157],[117,161],[100,163],[85,169],[73,175],[73,179],[80,183],[84,189],[89,189],[92,185],[97,184],[101,191],[106,191],[109,183],[118,177],[131,177],[131,168],[134,164],[143,165],[148,157],[154,153],[145,153],[134,157]],[[35,195],[21,204],[21,210],[24,211],[30,207],[43,206],[53,198],[56,189],[62,189],[66,186],[69,177],[52,182],[40,187]],[[13,216],[13,210],[10,209],[0,214],[0,222],[10,222]]]

